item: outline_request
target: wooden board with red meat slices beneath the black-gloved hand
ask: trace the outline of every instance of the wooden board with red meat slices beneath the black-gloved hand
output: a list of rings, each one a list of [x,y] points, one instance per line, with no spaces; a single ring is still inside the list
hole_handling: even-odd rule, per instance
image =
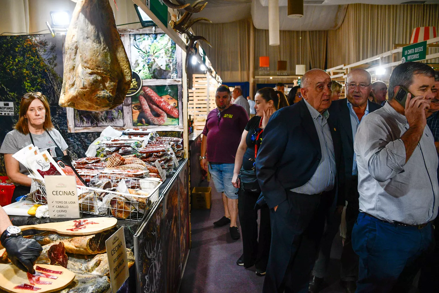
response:
[[[43,292],[53,292],[60,289],[63,289],[64,287],[68,286],[73,280],[75,279],[75,273],[69,271],[66,268],[63,268],[59,265],[50,265],[50,264],[36,264],[36,266],[40,266],[42,268],[48,268],[49,270],[53,271],[62,271],[62,275],[55,275],[58,279],[47,279],[47,278],[41,278],[41,281],[49,281],[52,282],[50,285],[33,285],[38,288],[41,288],[40,290],[33,291],[33,290],[26,290],[26,289],[14,289],[15,286],[18,286],[20,284],[30,284],[29,279],[27,278],[27,274],[14,266],[13,264],[1,264],[0,266],[0,288],[12,293],[43,293]]]

